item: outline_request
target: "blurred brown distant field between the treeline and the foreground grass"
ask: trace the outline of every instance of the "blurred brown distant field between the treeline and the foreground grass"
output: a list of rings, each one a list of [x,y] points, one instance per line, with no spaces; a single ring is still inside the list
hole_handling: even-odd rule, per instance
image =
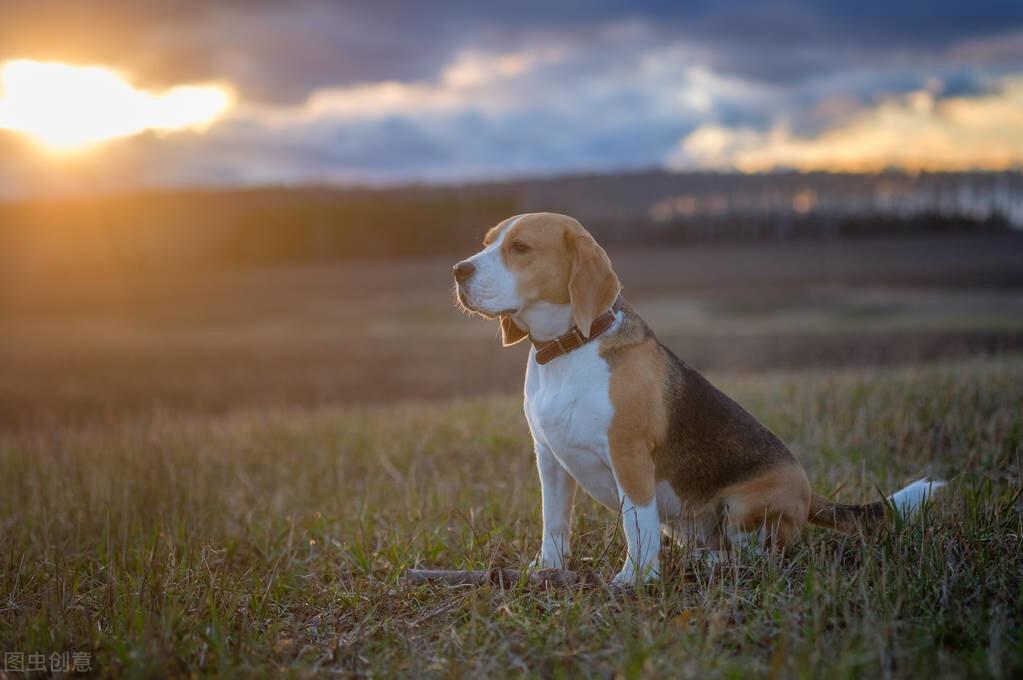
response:
[[[470,255],[0,274],[0,423],[506,393],[524,346],[451,304]],[[610,252],[701,370],[875,366],[1023,348],[1023,234]]]

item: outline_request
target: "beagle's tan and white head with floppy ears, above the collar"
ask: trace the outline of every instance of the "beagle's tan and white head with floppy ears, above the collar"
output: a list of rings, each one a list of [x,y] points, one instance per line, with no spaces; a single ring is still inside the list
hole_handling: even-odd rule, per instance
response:
[[[553,213],[518,215],[490,229],[483,250],[454,266],[454,278],[465,309],[500,318],[505,346],[527,336],[522,320],[538,303],[571,306],[573,322],[589,335],[621,291],[604,248],[579,222]]]

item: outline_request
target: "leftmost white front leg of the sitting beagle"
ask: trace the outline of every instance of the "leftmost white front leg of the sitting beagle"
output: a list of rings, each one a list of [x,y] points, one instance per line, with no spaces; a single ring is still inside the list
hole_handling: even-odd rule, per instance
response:
[[[571,551],[572,503],[576,482],[545,445],[536,443],[536,468],[543,499],[543,542],[534,569],[567,569]]]

